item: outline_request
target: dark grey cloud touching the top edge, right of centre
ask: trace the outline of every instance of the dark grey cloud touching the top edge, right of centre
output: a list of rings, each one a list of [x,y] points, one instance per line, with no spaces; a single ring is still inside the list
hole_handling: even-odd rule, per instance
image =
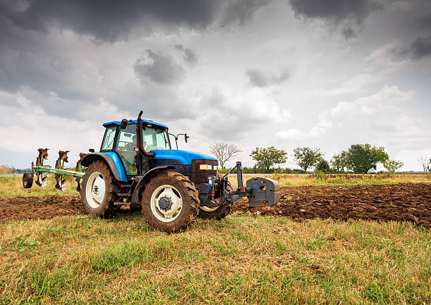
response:
[[[330,20],[336,24],[353,20],[361,24],[368,15],[383,9],[375,0],[290,0],[296,15]]]

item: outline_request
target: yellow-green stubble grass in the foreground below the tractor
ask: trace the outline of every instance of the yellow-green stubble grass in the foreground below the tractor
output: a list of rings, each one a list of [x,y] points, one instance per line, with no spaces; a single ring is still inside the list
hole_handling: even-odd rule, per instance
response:
[[[431,234],[410,223],[232,214],[168,235],[132,214],[0,232],[4,304],[431,301]]]

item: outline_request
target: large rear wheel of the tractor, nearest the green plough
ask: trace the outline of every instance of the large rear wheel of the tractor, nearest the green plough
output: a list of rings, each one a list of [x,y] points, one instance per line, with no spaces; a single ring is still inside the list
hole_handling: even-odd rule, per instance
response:
[[[118,184],[105,162],[89,164],[82,177],[80,190],[85,212],[96,216],[112,216],[118,210],[114,205],[117,192]]]

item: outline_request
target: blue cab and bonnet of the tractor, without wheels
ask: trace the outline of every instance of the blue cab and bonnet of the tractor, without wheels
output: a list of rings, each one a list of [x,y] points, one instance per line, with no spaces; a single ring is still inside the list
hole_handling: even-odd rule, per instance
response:
[[[162,168],[183,174],[193,183],[208,184],[209,177],[217,175],[215,157],[178,150],[178,136],[184,136],[187,142],[187,134],[169,134],[168,126],[141,117],[107,122],[104,126],[99,154],[115,164],[120,181],[137,180],[151,170]],[[169,136],[175,138],[177,149],[172,149]]]

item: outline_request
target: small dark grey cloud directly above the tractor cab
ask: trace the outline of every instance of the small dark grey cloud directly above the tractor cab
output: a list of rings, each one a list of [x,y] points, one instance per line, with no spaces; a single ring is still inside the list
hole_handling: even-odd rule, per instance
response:
[[[157,84],[176,84],[185,79],[184,68],[170,54],[146,50],[146,55],[134,65],[135,73],[142,82],[150,79]]]

